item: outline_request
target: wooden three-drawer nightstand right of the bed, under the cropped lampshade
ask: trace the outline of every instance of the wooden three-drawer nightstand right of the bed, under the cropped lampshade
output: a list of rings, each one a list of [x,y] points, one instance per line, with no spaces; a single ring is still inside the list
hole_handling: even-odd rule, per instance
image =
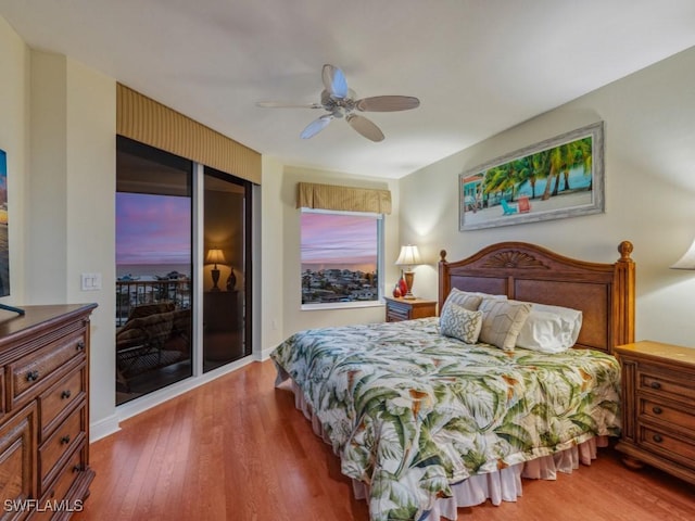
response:
[[[616,348],[622,367],[626,465],[642,462],[695,484],[695,348],[636,342]]]

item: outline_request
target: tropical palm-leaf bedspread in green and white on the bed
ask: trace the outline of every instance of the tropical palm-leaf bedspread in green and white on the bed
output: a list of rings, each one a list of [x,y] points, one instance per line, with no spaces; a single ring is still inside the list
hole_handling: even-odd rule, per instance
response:
[[[372,520],[420,519],[466,478],[619,435],[615,357],[439,333],[437,318],[299,332],[270,355],[369,485]]]

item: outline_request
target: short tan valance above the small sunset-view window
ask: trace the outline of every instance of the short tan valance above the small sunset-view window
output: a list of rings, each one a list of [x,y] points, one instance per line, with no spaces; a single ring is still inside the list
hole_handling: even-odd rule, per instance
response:
[[[296,190],[296,207],[390,214],[391,192],[370,188],[300,182]]]

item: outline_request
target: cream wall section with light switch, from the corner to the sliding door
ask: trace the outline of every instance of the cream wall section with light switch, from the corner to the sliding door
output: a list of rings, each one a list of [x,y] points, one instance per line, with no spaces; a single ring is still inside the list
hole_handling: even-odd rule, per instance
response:
[[[87,303],[90,420],[114,429],[116,85],[74,60],[30,51],[25,304]],[[81,291],[99,272],[102,290]],[[94,429],[99,431],[99,429]]]

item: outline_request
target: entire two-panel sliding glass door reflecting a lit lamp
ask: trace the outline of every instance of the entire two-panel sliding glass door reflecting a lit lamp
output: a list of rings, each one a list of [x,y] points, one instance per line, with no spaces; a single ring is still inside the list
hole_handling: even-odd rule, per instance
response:
[[[116,157],[121,405],[251,355],[252,185],[123,137]]]

